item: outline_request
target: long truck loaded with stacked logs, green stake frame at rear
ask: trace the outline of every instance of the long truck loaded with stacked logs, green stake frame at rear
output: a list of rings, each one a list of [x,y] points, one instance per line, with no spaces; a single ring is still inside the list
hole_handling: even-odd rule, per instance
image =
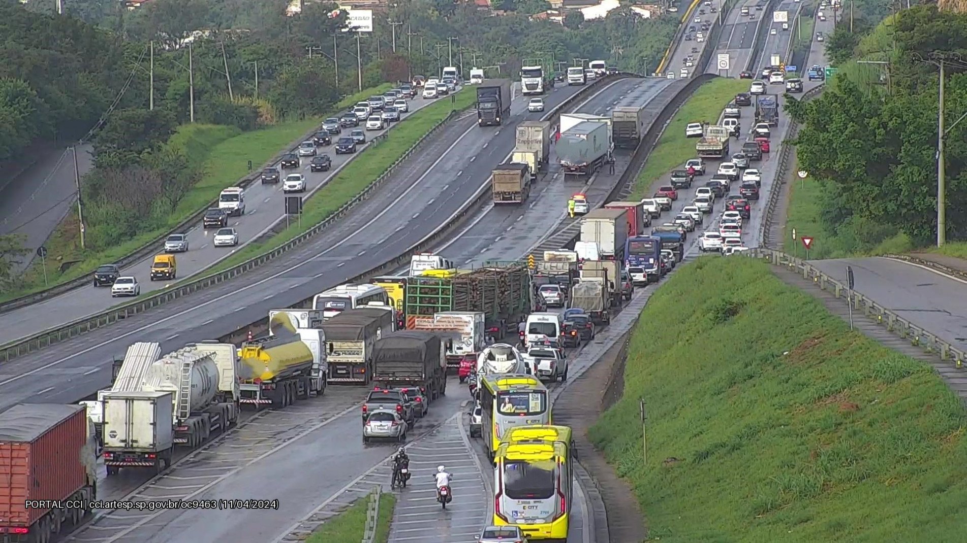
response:
[[[484,313],[484,327],[496,339],[516,333],[531,312],[530,272],[519,262],[489,263],[450,277],[410,277],[406,284],[406,328],[418,318],[447,311]]]

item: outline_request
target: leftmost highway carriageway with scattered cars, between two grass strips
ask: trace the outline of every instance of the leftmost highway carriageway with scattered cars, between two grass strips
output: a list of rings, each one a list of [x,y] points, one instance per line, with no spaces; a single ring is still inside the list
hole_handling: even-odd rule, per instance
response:
[[[448,99],[444,98],[441,100]],[[413,112],[434,101],[420,98],[410,100],[410,113],[403,114],[402,120],[399,123],[395,123],[394,127],[390,129],[405,124],[407,117],[413,115]],[[387,130],[366,131],[366,138],[371,141],[374,137],[385,133]],[[349,131],[350,129],[342,129],[342,133],[345,135],[348,135]],[[334,144],[337,137],[336,134],[333,135]],[[366,145],[368,144],[366,143]],[[308,157],[301,158],[299,169],[281,170],[278,168],[278,164],[273,167],[280,172],[282,178],[290,173],[305,175],[307,191],[303,195],[306,196],[311,190],[325,185],[329,180],[333,179],[339,169],[350,160],[355,159],[355,157],[365,157],[366,154],[363,151],[365,148],[366,146],[360,146],[359,151],[355,155],[336,155],[336,151],[332,146],[320,147],[318,150],[319,154],[328,154],[333,159],[333,167],[329,172],[310,172],[310,158]],[[78,159],[80,158],[78,155]],[[189,237],[189,250],[188,252],[177,255],[179,279],[201,272],[226,258],[245,244],[258,238],[275,224],[280,217],[284,216],[282,213],[284,194],[282,193],[282,184],[280,182],[275,185],[261,185],[256,181],[246,189],[245,200],[245,214],[229,217],[228,222],[228,226],[235,228],[239,234],[238,247],[216,247],[212,243],[212,236],[215,234],[216,229],[202,228],[200,223],[195,224],[185,232]],[[57,217],[57,220],[61,216],[63,214]],[[162,289],[166,284],[175,282],[149,280],[153,259],[154,255],[151,255],[132,264],[123,271],[125,274],[130,274],[137,278],[141,285],[142,294]],[[110,263],[105,262],[104,264]],[[70,323],[74,320],[108,309],[118,303],[119,300],[111,298],[110,288],[99,288],[93,286],[93,284],[88,284],[54,298],[17,308],[0,314],[0,344],[29,336],[44,329],[51,329],[62,324]]]

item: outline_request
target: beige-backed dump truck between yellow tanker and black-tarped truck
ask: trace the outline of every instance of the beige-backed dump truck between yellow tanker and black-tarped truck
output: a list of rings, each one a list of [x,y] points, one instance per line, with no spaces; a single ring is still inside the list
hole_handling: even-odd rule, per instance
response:
[[[372,346],[396,329],[396,317],[375,307],[359,307],[326,321],[326,354],[330,383],[368,385],[372,380]]]

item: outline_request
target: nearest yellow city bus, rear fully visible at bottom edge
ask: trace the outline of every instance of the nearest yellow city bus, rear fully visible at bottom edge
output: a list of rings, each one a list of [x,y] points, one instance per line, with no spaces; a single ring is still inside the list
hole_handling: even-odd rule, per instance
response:
[[[567,540],[572,457],[568,426],[508,430],[496,454],[493,524],[517,526],[531,541]]]

